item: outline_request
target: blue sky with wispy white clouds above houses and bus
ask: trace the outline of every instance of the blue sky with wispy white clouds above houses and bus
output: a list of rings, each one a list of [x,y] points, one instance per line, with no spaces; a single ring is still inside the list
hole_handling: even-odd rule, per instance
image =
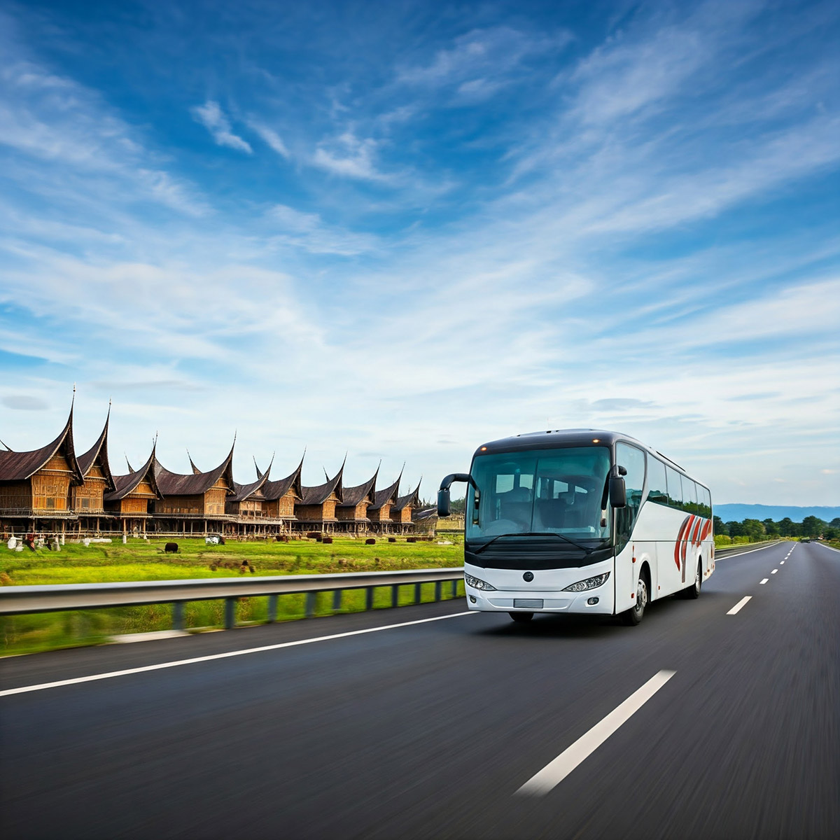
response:
[[[616,428],[840,503],[836,3],[0,4],[0,438],[304,480]]]

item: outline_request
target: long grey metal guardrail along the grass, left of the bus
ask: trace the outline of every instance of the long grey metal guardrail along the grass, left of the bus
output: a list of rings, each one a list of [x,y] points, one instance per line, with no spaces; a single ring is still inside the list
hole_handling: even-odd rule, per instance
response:
[[[440,601],[445,581],[452,582],[456,596],[464,567],[453,569],[412,569],[392,572],[343,572],[332,575],[275,575],[237,578],[202,578],[198,580],[137,580],[128,583],[81,583],[56,586],[0,587],[0,616],[31,612],[104,609],[113,606],[172,604],[172,623],[184,629],[186,601],[224,601],[224,627],[234,627],[236,601],[239,598],[268,596],[268,620],[276,621],[277,598],[306,593],[306,615],[315,613],[318,592],[333,592],[333,611],[341,608],[345,590],[365,590],[365,609],[373,608],[373,591],[391,587],[391,606],[398,605],[399,587],[414,586],[414,601],[420,602],[420,587],[433,583],[434,600]]]

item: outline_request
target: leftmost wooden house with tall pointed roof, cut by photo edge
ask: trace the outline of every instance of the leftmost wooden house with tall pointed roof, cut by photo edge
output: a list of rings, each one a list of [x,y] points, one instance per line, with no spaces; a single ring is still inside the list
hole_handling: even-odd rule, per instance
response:
[[[76,514],[71,487],[81,486],[73,449],[73,408],[55,440],[29,452],[0,451],[0,523],[7,533],[65,533]]]

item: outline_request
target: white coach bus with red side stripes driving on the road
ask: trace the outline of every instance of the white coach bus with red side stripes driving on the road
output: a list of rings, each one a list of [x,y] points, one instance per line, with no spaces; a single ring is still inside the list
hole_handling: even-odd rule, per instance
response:
[[[464,570],[471,610],[620,615],[649,601],[700,596],[715,569],[711,493],[685,470],[617,432],[517,434],[475,450],[468,484]]]

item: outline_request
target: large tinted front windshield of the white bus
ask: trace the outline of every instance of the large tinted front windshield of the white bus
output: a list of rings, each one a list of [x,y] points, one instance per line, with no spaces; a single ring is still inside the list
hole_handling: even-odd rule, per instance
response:
[[[478,523],[470,514],[474,497],[470,487],[466,538],[484,541],[501,535],[556,533],[578,543],[605,540],[609,519],[601,517],[610,516],[604,503],[609,470],[606,446],[479,455],[472,465],[480,489]]]

